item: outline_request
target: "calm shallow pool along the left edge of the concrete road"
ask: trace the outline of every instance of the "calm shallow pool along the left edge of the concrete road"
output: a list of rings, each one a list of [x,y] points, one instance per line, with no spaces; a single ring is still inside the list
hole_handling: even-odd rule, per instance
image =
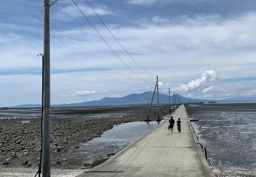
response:
[[[166,119],[168,116],[169,115],[163,118]],[[85,155],[87,159],[95,159],[100,155],[105,156],[108,153],[117,153],[158,124],[159,122],[151,121],[129,122],[115,125],[113,129],[105,131],[101,137],[94,138],[82,144],[79,151],[81,154]]]

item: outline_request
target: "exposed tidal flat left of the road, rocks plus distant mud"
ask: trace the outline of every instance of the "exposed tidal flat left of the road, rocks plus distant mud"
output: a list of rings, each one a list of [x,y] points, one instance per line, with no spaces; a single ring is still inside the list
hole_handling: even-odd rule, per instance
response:
[[[88,109],[85,111],[80,109],[78,112],[75,112],[74,108],[70,109],[58,108],[59,112],[53,112],[51,117],[52,169],[86,169],[84,164],[96,157],[83,153],[84,144],[93,138],[100,137],[113,126],[143,121],[148,114],[148,111],[145,111],[148,109],[148,105],[139,105],[137,109],[136,106],[125,106],[122,110],[120,107],[117,109],[112,107],[112,111],[105,107],[97,107],[96,110],[89,111],[90,114],[86,114]],[[2,171],[7,168],[38,168],[41,149],[41,118],[39,117],[40,109],[36,110],[18,110],[19,112],[11,110],[15,111],[15,114],[1,112],[0,168]],[[65,114],[67,110],[70,112]],[[104,110],[106,111],[104,112]],[[26,113],[22,114],[24,112]],[[161,106],[160,118],[167,114],[169,114],[169,106]],[[149,118],[156,120],[156,107],[150,112]],[[116,151],[109,151],[108,153],[116,153]]]

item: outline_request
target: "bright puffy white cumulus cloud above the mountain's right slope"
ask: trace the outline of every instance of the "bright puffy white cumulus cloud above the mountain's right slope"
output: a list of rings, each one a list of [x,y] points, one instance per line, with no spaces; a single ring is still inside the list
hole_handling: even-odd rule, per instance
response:
[[[202,73],[200,79],[192,80],[187,84],[181,83],[179,87],[174,89],[174,92],[200,92],[207,89],[211,89],[213,83],[218,79],[218,75],[213,70],[206,70]]]

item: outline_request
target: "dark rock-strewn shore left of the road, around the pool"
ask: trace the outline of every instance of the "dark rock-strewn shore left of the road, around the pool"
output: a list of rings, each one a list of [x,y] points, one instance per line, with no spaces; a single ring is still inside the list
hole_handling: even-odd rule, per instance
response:
[[[111,118],[51,118],[51,166],[58,169],[87,168],[89,159],[76,151],[81,143],[102,135],[113,125],[143,121],[148,112]],[[169,114],[169,107],[160,107],[160,118]],[[156,109],[150,119],[156,120]],[[0,120],[0,167],[37,168],[41,149],[41,118]],[[109,152],[111,153],[111,152]],[[105,158],[107,159],[107,158]],[[101,160],[104,161],[104,160]],[[90,164],[91,165],[91,164]]]

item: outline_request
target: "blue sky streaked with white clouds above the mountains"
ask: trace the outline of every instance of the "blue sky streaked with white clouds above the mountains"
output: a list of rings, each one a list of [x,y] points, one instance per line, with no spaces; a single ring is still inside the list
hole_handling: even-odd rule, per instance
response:
[[[256,96],[255,0],[88,0],[139,65],[85,0],[74,1],[139,77],[72,0],[58,0],[50,7],[51,104],[143,93],[157,75],[164,94]],[[0,107],[41,103],[42,11],[43,0],[1,2]]]

